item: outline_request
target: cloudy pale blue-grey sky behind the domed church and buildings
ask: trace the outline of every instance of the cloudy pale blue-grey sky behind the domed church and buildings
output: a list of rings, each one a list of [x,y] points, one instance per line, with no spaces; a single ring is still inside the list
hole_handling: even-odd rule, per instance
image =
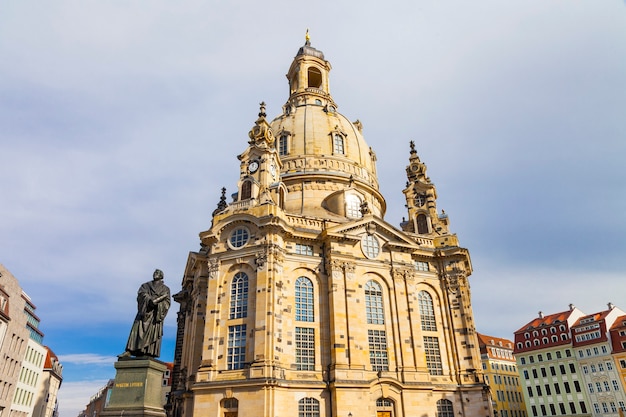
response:
[[[115,376],[139,285],[180,289],[307,28],[395,226],[416,142],[479,332],[626,309],[624,0],[0,0],[0,263],[64,366],[61,417]]]

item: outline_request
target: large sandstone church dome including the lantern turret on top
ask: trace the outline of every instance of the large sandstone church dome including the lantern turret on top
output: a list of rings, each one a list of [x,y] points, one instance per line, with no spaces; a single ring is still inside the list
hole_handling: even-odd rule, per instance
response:
[[[363,139],[361,123],[337,111],[330,69],[307,39],[287,73],[289,99],[271,122],[288,189],[285,209],[320,217],[354,218],[361,212],[383,217],[376,155]]]

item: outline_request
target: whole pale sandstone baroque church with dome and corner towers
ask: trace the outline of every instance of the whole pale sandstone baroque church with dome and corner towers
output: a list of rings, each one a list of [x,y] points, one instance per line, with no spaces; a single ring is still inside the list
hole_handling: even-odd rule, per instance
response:
[[[487,417],[467,249],[411,143],[408,216],[306,43],[185,268],[170,417]],[[243,146],[242,146],[243,148]]]

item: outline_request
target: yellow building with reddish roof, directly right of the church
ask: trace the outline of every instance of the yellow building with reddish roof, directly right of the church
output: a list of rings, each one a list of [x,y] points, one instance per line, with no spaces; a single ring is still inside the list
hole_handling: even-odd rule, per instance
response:
[[[526,417],[524,393],[513,356],[513,342],[479,333],[478,345],[485,381],[491,388],[494,416]]]

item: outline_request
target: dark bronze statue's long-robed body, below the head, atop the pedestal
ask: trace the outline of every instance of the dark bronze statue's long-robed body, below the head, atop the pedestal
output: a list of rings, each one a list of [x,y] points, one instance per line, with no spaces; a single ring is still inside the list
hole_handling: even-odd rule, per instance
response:
[[[128,336],[126,351],[133,356],[161,354],[163,320],[170,308],[170,289],[163,281],[142,284],[137,291],[137,316]]]

